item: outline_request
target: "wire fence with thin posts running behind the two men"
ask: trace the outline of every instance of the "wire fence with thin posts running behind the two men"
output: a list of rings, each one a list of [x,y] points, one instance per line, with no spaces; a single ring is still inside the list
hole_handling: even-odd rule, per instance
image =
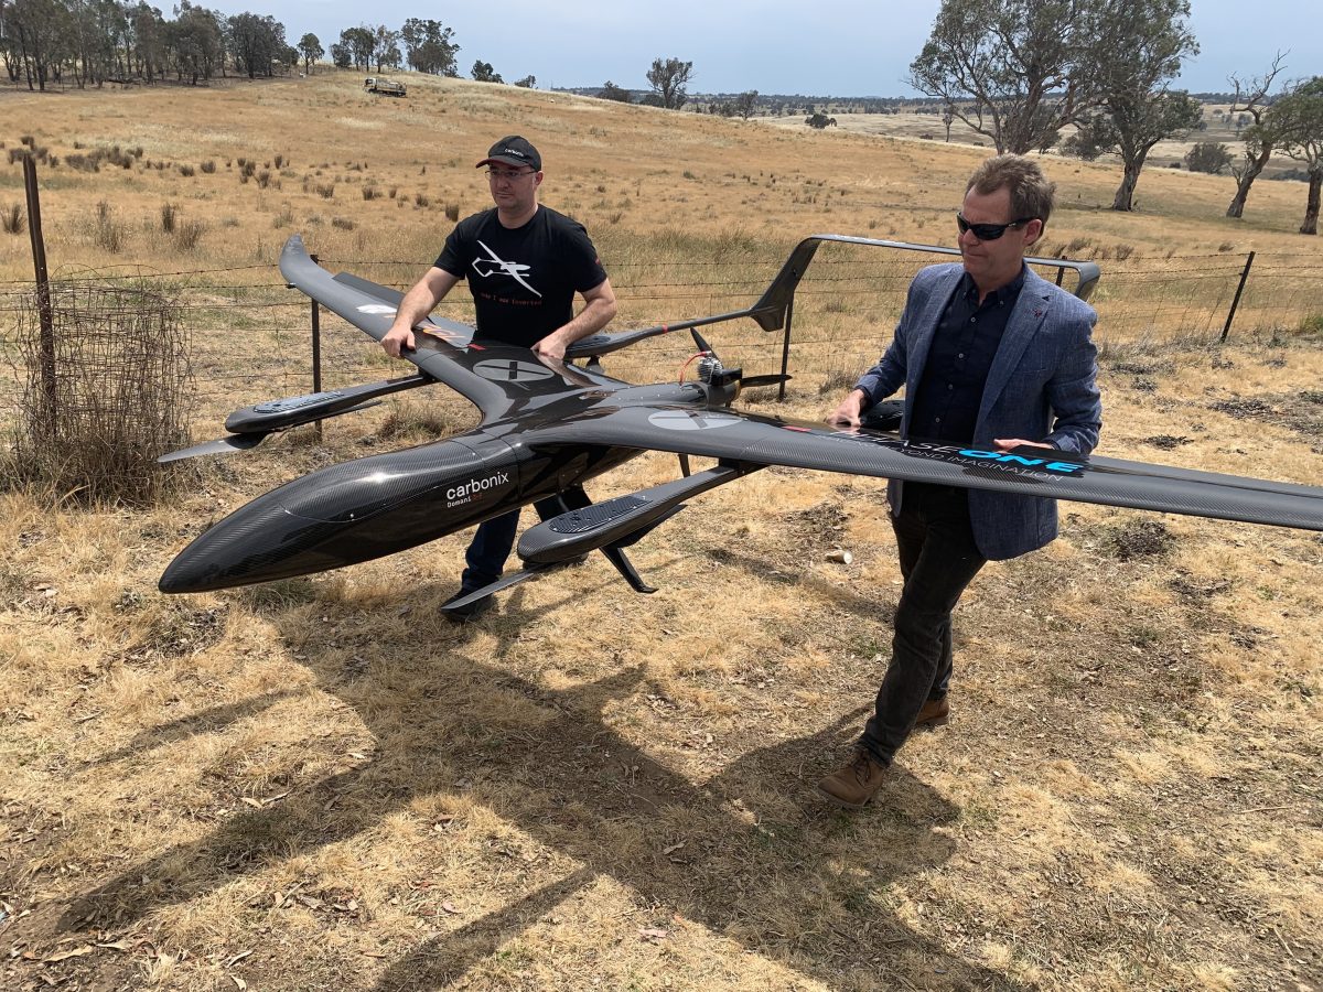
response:
[[[405,290],[430,259],[323,258],[331,271],[351,271]],[[946,258],[922,253],[878,253],[852,245],[824,245],[795,294],[790,372],[823,389],[849,380],[890,340],[914,272]],[[1249,266],[1248,262],[1253,265]],[[750,306],[782,265],[781,258],[732,253],[724,258],[681,254],[610,265],[620,302],[614,328],[647,327]],[[1216,343],[1281,335],[1323,324],[1323,259],[1312,254],[1179,255],[1099,259],[1102,279],[1090,298],[1098,310],[1101,347],[1164,340]],[[1058,279],[1058,270],[1041,274]],[[1237,300],[1237,290],[1244,288]],[[1065,288],[1074,275],[1064,274]],[[132,267],[61,280],[87,286],[134,284],[169,298],[191,329],[192,418],[212,421],[225,411],[274,395],[312,390],[311,303],[290,288],[274,266],[234,266],[147,272]],[[8,369],[0,384],[7,417],[15,411],[25,377],[17,340],[19,316],[34,296],[32,283],[0,283],[0,357]],[[1234,320],[1230,315],[1234,306]],[[437,311],[472,320],[467,292],[455,291]],[[78,333],[78,328],[57,328]],[[713,328],[709,340],[726,365],[746,372],[779,369],[781,336],[753,321]],[[675,374],[692,353],[688,339],[667,335],[607,356],[607,372],[632,381]],[[335,389],[365,376],[401,374],[398,364],[359,331],[327,312],[320,319],[321,388]],[[816,381],[816,382],[815,382]]]

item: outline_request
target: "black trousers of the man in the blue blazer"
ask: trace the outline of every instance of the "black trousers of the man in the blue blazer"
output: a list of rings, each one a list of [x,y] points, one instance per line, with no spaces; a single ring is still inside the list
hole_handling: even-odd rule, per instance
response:
[[[974,544],[968,489],[905,483],[892,517],[905,585],[896,606],[892,661],[861,745],[890,765],[927,700],[951,680],[951,611],[987,562]]]

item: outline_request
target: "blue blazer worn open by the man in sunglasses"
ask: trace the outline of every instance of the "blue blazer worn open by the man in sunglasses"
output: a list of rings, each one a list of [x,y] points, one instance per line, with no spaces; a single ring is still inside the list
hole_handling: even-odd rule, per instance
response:
[[[896,337],[856,384],[869,405],[905,386],[901,436],[909,436],[923,362],[963,274],[964,267],[957,262],[930,266],[914,276]],[[1093,451],[1102,427],[1091,340],[1097,320],[1088,303],[1025,270],[1024,288],[988,369],[974,447],[988,447],[995,438],[1024,438],[1082,455]],[[904,488],[894,479],[886,485],[893,515],[900,513]],[[984,558],[1013,558],[1057,536],[1057,501],[970,489],[970,522]]]

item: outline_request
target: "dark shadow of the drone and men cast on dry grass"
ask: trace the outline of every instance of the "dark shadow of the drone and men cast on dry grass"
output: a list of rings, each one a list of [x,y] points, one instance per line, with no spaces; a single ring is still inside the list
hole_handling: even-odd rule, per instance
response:
[[[442,595],[419,590],[414,602],[439,602]],[[499,636],[497,657],[532,616],[520,612],[519,623],[509,624],[512,604],[503,622],[482,624]],[[372,761],[128,868],[67,906],[61,929],[132,926],[273,858],[372,829],[417,798],[467,788],[472,802],[577,866],[558,880],[529,881],[501,909],[419,943],[388,967],[377,992],[462,979],[598,876],[830,985],[910,987],[914,980],[926,988],[1024,988],[953,955],[888,909],[894,881],[951,856],[954,844],[942,827],[959,811],[900,767],[875,807],[861,813],[841,813],[816,798],[816,778],[843,755],[844,721],[754,746],[717,775],[693,782],[603,720],[614,700],[647,689],[642,668],[552,690],[462,657],[455,648],[468,643],[472,628],[435,639],[400,630],[378,640],[380,661],[370,672],[345,681],[329,652],[310,643],[302,620],[292,614],[274,619],[287,626],[284,636],[299,644],[320,688],[355,708],[373,734]],[[503,725],[484,725],[480,717],[456,723],[475,700],[497,706]],[[265,702],[213,710],[175,730],[214,731]],[[622,827],[656,836],[668,820],[684,824],[692,862],[668,857],[669,850],[623,853],[603,843]],[[792,925],[785,926],[786,919]]]

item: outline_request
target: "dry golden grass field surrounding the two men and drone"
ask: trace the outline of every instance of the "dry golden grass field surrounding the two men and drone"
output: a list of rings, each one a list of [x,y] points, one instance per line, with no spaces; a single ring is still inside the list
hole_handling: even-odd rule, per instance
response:
[[[541,148],[544,202],[589,226],[622,325],[744,306],[815,231],[953,243],[987,153],[407,81],[405,101],[351,75],[0,93],[4,149],[26,136],[58,159],[40,169],[52,269],[194,302],[198,439],[308,389],[282,364],[307,351],[284,238],[407,283],[447,210],[486,205],[472,163],[503,134]],[[127,167],[70,165],[115,145]],[[1316,253],[1291,233],[1303,186],[1261,183],[1232,222],[1229,180],[1152,169],[1119,216],[1115,167],[1046,168],[1062,209],[1044,254],[1103,266],[1101,452],[1318,484],[1323,304],[1216,347],[1151,303],[1148,324],[1109,327],[1143,286],[1105,294],[1118,249],[1172,269]],[[21,202],[0,159],[0,212]],[[885,345],[894,294],[859,283],[902,288],[916,265],[823,255],[795,313],[786,407],[804,417]],[[0,233],[3,299],[30,278],[26,237]],[[332,385],[400,374],[327,333]],[[779,361],[761,332],[710,337],[750,372]],[[647,381],[687,351],[613,357]],[[191,537],[267,488],[471,421],[411,393],[180,470],[147,511],[0,493],[0,988],[1323,989],[1316,534],[1062,505],[1057,542],[975,582],[953,722],[855,815],[812,786],[888,657],[900,575],[875,480],[757,474],[634,549],[655,595],[594,556],[464,627],[437,612],[463,534],[156,593]],[[644,456],[591,495],[675,472]]]

